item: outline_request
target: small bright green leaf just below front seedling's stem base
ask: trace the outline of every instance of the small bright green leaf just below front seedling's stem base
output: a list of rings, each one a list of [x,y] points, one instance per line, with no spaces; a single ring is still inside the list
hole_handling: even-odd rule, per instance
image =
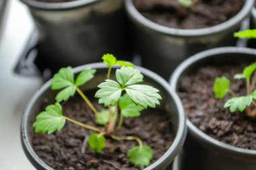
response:
[[[100,153],[105,148],[105,138],[101,134],[90,134],[88,139],[90,149]]]

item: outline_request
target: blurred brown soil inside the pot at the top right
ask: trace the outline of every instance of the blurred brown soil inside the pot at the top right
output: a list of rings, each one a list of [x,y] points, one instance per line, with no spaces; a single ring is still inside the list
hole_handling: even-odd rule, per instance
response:
[[[197,29],[216,26],[236,15],[244,0],[194,0],[186,8],[178,0],[133,0],[137,10],[157,24],[170,28]]]

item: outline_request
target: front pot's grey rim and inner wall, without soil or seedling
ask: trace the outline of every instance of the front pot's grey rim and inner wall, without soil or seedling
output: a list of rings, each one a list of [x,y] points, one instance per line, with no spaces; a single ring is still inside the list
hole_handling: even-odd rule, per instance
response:
[[[77,67],[74,69],[74,73],[78,73],[86,68],[94,68],[97,69],[96,75],[94,77],[94,81],[89,81],[86,83],[86,87],[82,87],[83,90],[96,89],[97,85],[106,79],[107,67],[103,63],[95,63],[90,65],[84,65],[82,67]],[[160,90],[162,95],[162,101],[160,107],[166,112],[162,114],[168,114],[170,119],[174,124],[174,130],[176,132],[176,137],[168,151],[155,163],[147,167],[145,170],[149,169],[164,169],[167,167],[174,157],[176,157],[181,151],[183,143],[185,141],[185,137],[187,134],[187,127],[185,124],[185,114],[183,112],[183,107],[181,101],[177,94],[172,91],[166,81],[162,79],[160,76],[152,73],[152,71],[148,71],[147,69],[143,69],[141,67],[137,67],[144,75],[144,81],[148,85],[153,85],[154,87]],[[114,72],[114,71],[113,71]],[[21,126],[21,139],[22,146],[26,153],[26,156],[30,160],[30,162],[36,167],[36,169],[52,169],[46,163],[44,163],[37,155],[34,153],[32,145],[31,145],[31,126],[32,119],[34,118],[34,114],[39,110],[42,100],[46,97],[48,99],[53,99],[53,91],[50,89],[51,82],[48,81],[45,83],[39,91],[32,97],[30,102],[28,103],[24,116],[22,118],[22,126]],[[54,101],[53,101],[54,103]],[[156,125],[157,128],[157,125]]]

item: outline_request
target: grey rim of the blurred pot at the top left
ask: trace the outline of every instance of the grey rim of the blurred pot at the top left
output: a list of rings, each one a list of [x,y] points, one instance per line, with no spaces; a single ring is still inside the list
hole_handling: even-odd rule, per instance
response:
[[[60,3],[49,3],[49,2],[42,2],[36,0],[20,0],[29,7],[34,7],[37,9],[44,9],[44,10],[65,10],[65,9],[73,9],[77,7],[82,7],[86,5],[90,5],[92,3],[96,3],[98,1],[104,0],[75,0],[69,2],[60,2]]]

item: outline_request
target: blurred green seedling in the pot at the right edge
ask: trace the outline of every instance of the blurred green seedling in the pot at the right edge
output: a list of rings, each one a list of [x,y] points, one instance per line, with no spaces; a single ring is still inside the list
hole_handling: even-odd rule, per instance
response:
[[[245,67],[243,73],[234,75],[234,79],[245,79],[247,84],[247,95],[236,97],[235,93],[230,89],[230,81],[226,77],[217,77],[214,82],[214,94],[216,98],[223,99],[228,93],[232,95],[224,104],[224,108],[229,108],[230,112],[244,112],[247,116],[256,116],[256,62]],[[252,77],[253,75],[253,77]],[[251,110],[250,105],[253,103],[255,109]],[[245,110],[247,108],[247,110]]]

